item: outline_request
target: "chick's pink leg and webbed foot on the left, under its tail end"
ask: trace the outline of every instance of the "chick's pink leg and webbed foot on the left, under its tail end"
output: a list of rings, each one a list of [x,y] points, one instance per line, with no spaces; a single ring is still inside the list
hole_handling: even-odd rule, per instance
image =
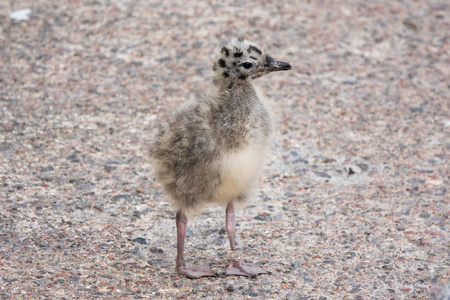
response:
[[[217,276],[208,265],[198,267],[186,267],[184,262],[184,239],[187,230],[187,217],[183,211],[179,210],[176,216],[177,222],[177,258],[175,260],[178,274],[185,275],[188,278],[200,278],[207,276]]]

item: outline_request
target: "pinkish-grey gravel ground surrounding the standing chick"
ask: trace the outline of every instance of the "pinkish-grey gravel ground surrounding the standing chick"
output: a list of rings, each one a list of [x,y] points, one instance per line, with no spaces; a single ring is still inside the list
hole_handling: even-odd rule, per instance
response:
[[[0,1],[0,297],[449,299],[448,1],[211,2]],[[277,134],[238,212],[272,274],[223,275],[211,207],[187,263],[220,276],[189,280],[146,142],[236,36],[294,66],[257,81]]]

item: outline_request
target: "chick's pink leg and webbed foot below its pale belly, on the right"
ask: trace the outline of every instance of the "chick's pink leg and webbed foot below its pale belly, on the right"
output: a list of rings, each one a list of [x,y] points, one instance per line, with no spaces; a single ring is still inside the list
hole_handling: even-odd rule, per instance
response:
[[[234,215],[234,205],[233,202],[228,203],[226,210],[226,229],[228,234],[228,239],[230,240],[231,251],[234,253],[236,250],[236,216]],[[267,274],[269,271],[264,270],[263,268],[247,264],[242,262],[239,258],[230,259],[230,264],[226,270],[226,275],[237,275],[237,276],[248,276],[248,277],[256,277],[258,274]]]

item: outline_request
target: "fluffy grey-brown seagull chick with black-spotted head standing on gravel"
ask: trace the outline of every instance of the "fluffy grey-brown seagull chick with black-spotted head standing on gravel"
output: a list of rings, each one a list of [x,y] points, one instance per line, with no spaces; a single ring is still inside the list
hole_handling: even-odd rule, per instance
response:
[[[150,145],[156,177],[177,209],[176,270],[189,278],[216,276],[209,266],[187,267],[187,216],[208,203],[226,205],[226,231],[236,250],[234,206],[258,181],[270,147],[270,116],[252,80],[291,70],[254,43],[232,39],[213,66],[214,89],[197,95],[160,124]],[[254,277],[268,271],[230,259],[227,275]]]

